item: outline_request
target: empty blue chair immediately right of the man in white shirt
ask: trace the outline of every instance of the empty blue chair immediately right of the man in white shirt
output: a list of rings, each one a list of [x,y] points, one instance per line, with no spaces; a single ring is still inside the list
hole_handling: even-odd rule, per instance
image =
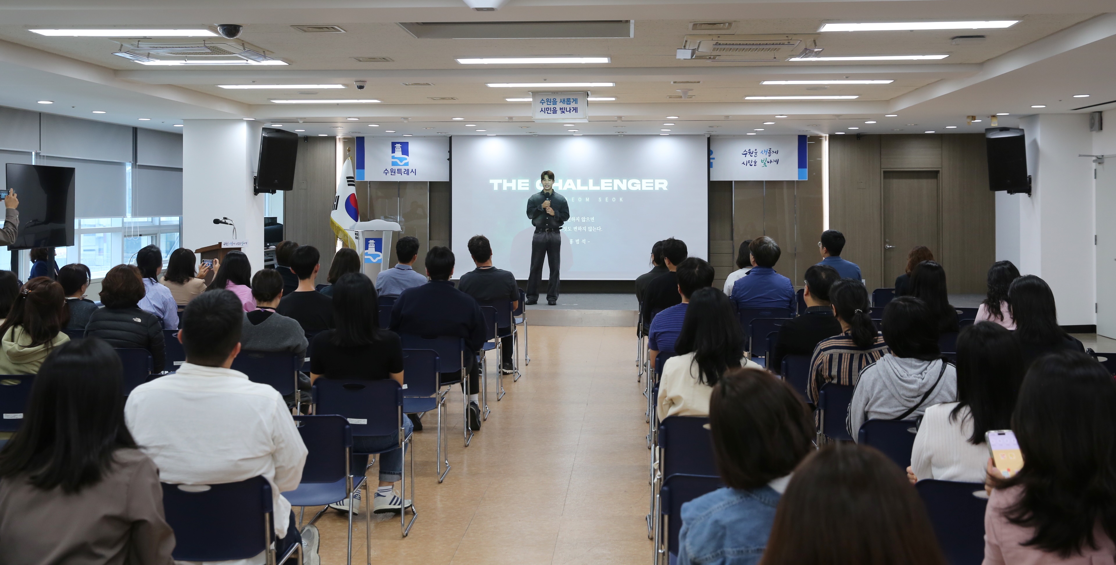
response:
[[[347,420],[339,415],[297,415],[295,425],[306,446],[306,463],[302,465],[302,479],[298,488],[283,492],[282,496],[291,506],[302,507],[298,514],[299,530],[302,526],[302,511],[307,506],[321,506],[310,518],[310,524],[326,513],[330,505],[338,500],[349,499],[353,506],[353,475],[349,470],[349,453],[353,450],[353,429]],[[365,489],[368,495],[368,489]],[[366,500],[371,498],[365,498]],[[353,561],[353,513],[348,516],[348,562]]]

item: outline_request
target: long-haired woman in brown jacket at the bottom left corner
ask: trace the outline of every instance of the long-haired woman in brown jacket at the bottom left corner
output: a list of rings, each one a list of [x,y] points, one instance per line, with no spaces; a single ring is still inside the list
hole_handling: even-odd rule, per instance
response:
[[[172,565],[158,469],[124,424],[122,373],[100,339],[42,363],[0,450],[0,562]]]

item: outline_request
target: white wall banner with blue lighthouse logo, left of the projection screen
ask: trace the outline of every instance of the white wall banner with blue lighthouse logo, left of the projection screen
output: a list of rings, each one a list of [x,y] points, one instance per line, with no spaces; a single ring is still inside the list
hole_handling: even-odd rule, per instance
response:
[[[356,138],[356,180],[450,180],[450,138],[392,135]]]

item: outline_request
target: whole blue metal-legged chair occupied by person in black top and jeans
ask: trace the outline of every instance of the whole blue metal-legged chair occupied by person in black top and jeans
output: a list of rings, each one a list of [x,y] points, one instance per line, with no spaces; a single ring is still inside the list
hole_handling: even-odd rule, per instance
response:
[[[400,383],[384,379],[382,381],[340,381],[333,379],[318,379],[314,383],[315,413],[339,414],[348,420],[354,437],[360,435],[392,435],[397,434],[400,442],[397,446],[384,451],[364,452],[354,450],[357,456],[376,456],[397,448],[403,449],[403,458],[406,459],[407,447],[411,443],[411,435],[403,433],[403,386]],[[369,465],[372,461],[369,460]],[[419,511],[414,507],[414,469],[415,456],[411,451],[411,521],[406,520],[406,508],[400,513],[400,530],[403,537],[411,532],[411,526],[419,518]],[[358,481],[364,481],[367,469],[352,469],[356,472]],[[407,473],[404,471],[400,494],[406,499]],[[368,546],[372,546],[372,513],[368,511],[372,505],[372,497],[365,501],[365,528],[368,536]],[[352,514],[352,513],[350,513]],[[369,555],[371,559],[371,555]]]

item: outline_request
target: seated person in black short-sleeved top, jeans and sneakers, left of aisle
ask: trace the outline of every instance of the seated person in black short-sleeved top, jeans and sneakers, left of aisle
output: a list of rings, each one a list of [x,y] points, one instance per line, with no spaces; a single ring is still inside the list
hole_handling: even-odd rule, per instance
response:
[[[333,285],[333,314],[336,329],[314,336],[310,355],[310,379],[343,381],[382,381],[392,379],[403,384],[403,345],[400,336],[379,328],[376,287],[360,272],[346,272]],[[403,419],[406,434],[414,427]],[[400,434],[353,438],[353,451],[382,451],[397,447]],[[353,473],[363,476],[368,456],[354,456]],[[393,490],[403,478],[403,449],[396,448],[379,456],[379,488],[373,497],[373,511],[398,513],[402,498]],[[357,497],[357,500],[359,497]],[[411,501],[407,500],[407,506]],[[356,510],[359,513],[359,505]],[[348,499],[329,505],[348,510]]]

